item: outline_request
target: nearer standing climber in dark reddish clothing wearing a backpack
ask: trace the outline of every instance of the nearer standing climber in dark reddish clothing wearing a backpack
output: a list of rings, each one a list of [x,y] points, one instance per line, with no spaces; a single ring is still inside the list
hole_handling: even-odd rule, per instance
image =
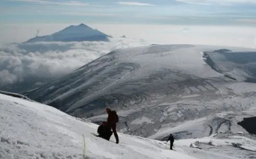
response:
[[[118,122],[118,116],[115,111],[110,110],[110,108],[106,108],[106,112],[108,113],[108,123],[107,127],[112,128],[112,131],[115,136],[115,143],[119,143],[118,135],[117,135],[117,122]]]

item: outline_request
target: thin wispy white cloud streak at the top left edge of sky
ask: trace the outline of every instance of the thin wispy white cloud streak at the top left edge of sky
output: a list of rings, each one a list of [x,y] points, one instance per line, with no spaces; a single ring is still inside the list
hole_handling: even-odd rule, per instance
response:
[[[46,0],[11,0],[11,1],[19,1],[19,2],[34,2],[41,4],[50,4],[50,5],[67,5],[67,6],[88,6],[88,3],[82,3],[79,1],[67,1],[67,2],[53,2]]]

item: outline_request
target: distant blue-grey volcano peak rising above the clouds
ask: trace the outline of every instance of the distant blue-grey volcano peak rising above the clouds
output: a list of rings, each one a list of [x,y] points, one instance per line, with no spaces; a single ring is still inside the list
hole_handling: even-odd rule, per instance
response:
[[[109,41],[108,35],[92,29],[85,24],[71,25],[63,30],[47,36],[36,36],[26,42],[39,41]]]

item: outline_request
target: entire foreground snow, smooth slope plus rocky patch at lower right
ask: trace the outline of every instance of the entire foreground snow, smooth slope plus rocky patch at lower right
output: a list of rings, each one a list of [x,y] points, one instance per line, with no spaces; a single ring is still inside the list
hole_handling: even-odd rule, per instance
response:
[[[216,134],[203,139],[166,142],[125,135],[120,143],[96,137],[97,125],[71,117],[51,106],[0,94],[0,158],[255,158],[255,136]],[[84,136],[84,137],[83,137]],[[84,147],[85,140],[85,147]],[[201,149],[189,147],[191,144]],[[84,157],[85,156],[85,157]]]

